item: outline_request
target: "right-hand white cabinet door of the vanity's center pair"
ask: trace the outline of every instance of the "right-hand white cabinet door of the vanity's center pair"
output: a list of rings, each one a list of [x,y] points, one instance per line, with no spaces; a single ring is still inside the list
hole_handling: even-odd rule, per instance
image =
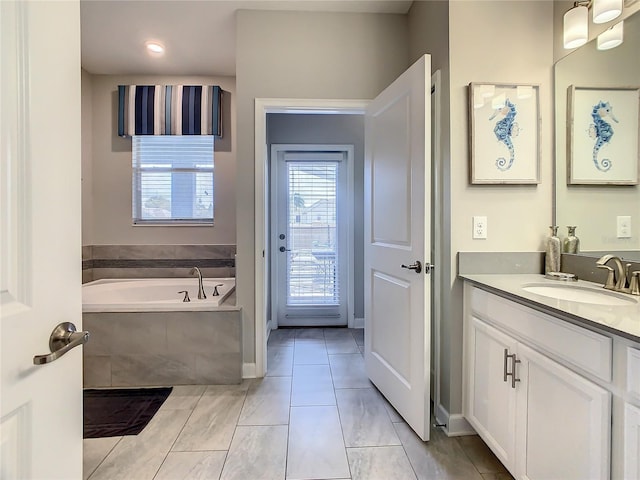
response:
[[[609,478],[610,393],[519,344],[517,478]]]

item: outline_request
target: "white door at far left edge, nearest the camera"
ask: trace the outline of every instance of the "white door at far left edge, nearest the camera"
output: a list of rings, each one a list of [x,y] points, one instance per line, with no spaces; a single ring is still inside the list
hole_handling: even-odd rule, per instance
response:
[[[0,1],[0,478],[82,478],[80,6]]]

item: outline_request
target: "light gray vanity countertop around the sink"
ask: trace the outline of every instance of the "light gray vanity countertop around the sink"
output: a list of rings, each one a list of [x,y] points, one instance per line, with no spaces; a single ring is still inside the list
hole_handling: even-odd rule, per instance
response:
[[[536,310],[567,318],[573,323],[590,325],[598,330],[604,330],[634,342],[640,342],[640,297],[620,294],[634,299],[635,303],[622,306],[599,305],[554,299],[524,289],[531,284],[552,286],[568,284],[589,289],[602,289],[602,285],[583,280],[561,282],[536,274],[463,274],[460,277],[478,288]]]

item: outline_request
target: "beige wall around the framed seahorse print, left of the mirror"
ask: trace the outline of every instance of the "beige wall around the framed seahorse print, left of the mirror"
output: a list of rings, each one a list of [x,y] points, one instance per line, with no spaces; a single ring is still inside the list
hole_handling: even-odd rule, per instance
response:
[[[543,250],[552,220],[553,194],[553,2],[451,1],[451,249],[452,252]],[[469,185],[468,104],[470,82],[540,85],[542,118],[540,184]],[[473,215],[485,215],[488,238],[471,237]],[[462,409],[462,282],[455,279],[450,318],[449,412]],[[458,301],[455,301],[455,300]]]

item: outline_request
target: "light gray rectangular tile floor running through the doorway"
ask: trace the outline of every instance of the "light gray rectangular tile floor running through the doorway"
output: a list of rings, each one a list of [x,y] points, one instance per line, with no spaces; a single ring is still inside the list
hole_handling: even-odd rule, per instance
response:
[[[363,350],[362,330],[273,331],[264,379],[175,387],[139,435],[84,440],[84,478],[512,479],[477,436],[423,443]]]

